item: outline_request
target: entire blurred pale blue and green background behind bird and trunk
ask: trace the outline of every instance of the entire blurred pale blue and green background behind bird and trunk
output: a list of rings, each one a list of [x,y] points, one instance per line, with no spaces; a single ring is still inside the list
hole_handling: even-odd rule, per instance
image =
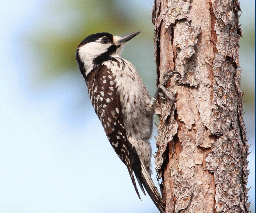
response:
[[[255,1],[240,3],[244,120],[252,144],[248,187],[255,212]],[[153,0],[1,1],[1,213],[158,212],[149,196],[138,199],[94,113],[75,61],[77,44],[91,33],[141,30],[122,56],[137,67],[153,95],[152,4]]]

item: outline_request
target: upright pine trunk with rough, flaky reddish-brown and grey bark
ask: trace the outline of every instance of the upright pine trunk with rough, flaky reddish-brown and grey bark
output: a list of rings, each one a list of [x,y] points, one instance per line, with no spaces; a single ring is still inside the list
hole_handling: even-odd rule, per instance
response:
[[[249,212],[246,132],[239,70],[237,0],[155,0],[158,83],[179,100],[161,100],[156,169],[166,212]]]

